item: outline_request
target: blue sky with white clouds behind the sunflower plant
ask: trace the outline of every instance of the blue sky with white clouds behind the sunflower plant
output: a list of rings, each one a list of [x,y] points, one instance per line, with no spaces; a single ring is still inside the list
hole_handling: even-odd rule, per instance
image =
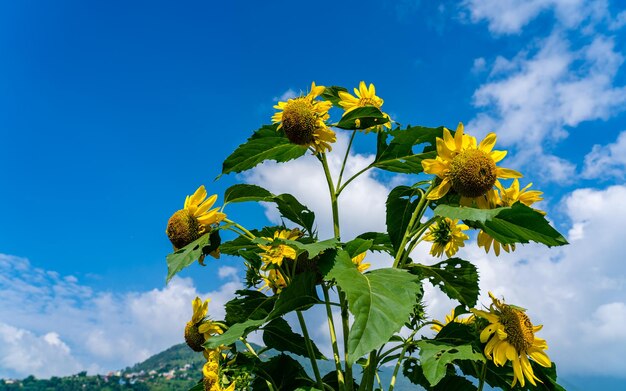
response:
[[[538,303],[544,330],[575,320],[548,336],[563,370],[623,376],[625,25],[623,5],[608,0],[0,5],[0,352],[12,357],[0,359],[0,377],[132,364],[180,340],[196,294],[213,296],[219,316],[241,262],[193,266],[165,287],[168,217],[198,185],[221,197],[238,182],[301,195],[324,214],[307,159],[213,179],[281,96],[361,80],[402,124],[498,133],[505,166],[545,192],[572,245],[464,255],[484,270],[485,292]],[[345,142],[340,134],[337,149]],[[354,167],[373,144],[357,140]],[[283,179],[296,172],[307,174]],[[354,204],[371,213],[345,205],[345,230],[384,229],[398,181],[355,181]],[[276,219],[255,205],[227,212],[247,226]],[[449,311],[434,291],[432,306]],[[576,338],[611,364],[572,359]],[[34,347],[47,352],[41,362],[19,359]],[[52,365],[59,355],[68,364]]]

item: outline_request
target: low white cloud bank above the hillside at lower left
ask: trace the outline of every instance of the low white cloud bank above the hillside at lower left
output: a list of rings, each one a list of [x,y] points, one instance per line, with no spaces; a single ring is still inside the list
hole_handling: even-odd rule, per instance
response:
[[[97,292],[73,276],[0,254],[0,377],[105,372],[180,343],[193,298],[211,298],[210,314],[221,318],[241,289],[232,268],[218,274],[227,280],[209,293],[183,278],[147,292]]]

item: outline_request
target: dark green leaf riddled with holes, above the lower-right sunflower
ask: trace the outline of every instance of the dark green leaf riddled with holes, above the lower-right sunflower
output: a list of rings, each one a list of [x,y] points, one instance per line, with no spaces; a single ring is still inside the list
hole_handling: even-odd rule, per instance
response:
[[[430,283],[439,287],[443,293],[453,300],[468,307],[476,305],[478,300],[478,269],[468,261],[450,258],[432,266],[421,264],[410,265],[411,273],[427,278]]]

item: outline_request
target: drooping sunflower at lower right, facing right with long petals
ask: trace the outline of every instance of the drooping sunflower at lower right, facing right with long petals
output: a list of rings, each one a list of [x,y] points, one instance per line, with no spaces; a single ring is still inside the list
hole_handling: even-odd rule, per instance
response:
[[[496,366],[503,366],[507,361],[512,362],[511,387],[517,382],[524,387],[526,380],[536,386],[535,380],[541,380],[535,376],[528,357],[542,367],[552,366],[544,351],[548,349],[548,344],[544,339],[535,336],[543,326],[533,326],[524,309],[505,304],[491,292],[489,297],[493,302],[489,311],[471,309],[474,315],[489,321],[489,325],[480,333],[480,342],[487,343],[485,356]]]

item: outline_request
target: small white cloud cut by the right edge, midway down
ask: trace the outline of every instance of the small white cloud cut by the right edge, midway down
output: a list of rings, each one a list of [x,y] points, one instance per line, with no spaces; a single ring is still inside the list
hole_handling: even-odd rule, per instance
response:
[[[622,131],[614,143],[594,145],[585,156],[583,177],[623,179],[626,173],[626,131]]]

